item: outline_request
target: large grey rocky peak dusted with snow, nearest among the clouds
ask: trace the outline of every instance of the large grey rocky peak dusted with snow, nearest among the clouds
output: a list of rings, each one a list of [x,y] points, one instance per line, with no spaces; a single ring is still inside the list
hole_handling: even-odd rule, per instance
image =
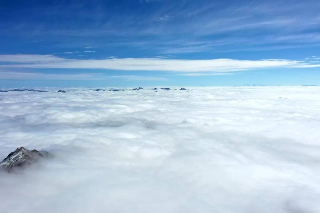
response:
[[[16,167],[24,167],[26,165],[33,164],[42,157],[48,157],[50,154],[46,151],[37,151],[36,149],[28,150],[24,147],[18,147],[14,152],[11,152],[0,163],[0,169],[8,172]]]

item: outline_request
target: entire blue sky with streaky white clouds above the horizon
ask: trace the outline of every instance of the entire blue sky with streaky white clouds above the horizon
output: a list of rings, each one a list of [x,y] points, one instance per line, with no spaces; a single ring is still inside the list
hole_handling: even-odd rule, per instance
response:
[[[320,84],[319,1],[0,2],[0,87]]]

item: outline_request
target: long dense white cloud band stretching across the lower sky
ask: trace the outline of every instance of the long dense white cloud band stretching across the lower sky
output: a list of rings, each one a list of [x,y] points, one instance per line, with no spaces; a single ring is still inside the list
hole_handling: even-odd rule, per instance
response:
[[[191,60],[172,58],[67,59],[54,55],[0,55],[3,68],[106,69],[128,71],[235,72],[261,68],[315,67],[315,62],[267,59],[236,60],[228,58]]]

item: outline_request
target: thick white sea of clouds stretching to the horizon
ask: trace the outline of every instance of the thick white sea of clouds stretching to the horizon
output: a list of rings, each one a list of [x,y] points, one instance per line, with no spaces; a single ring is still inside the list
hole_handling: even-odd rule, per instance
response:
[[[46,89],[0,93],[0,161],[53,155],[1,213],[320,212],[320,87]]]

